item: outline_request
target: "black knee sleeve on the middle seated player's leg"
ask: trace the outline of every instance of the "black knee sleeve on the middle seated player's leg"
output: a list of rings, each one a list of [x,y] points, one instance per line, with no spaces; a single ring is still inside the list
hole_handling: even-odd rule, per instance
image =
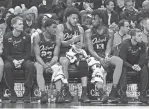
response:
[[[79,71],[80,71],[80,78],[87,76],[89,74],[88,71],[88,64],[85,60],[79,61]]]

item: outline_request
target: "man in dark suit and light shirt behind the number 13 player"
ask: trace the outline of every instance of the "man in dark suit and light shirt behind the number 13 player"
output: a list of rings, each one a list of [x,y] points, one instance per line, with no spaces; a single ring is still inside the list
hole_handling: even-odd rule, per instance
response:
[[[118,24],[119,15],[114,11],[114,2],[113,0],[106,0],[105,2],[106,10],[103,12],[103,23],[109,27],[113,23]]]

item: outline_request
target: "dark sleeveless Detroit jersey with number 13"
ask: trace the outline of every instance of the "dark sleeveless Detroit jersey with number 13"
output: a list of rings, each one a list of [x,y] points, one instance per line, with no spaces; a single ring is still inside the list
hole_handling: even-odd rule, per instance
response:
[[[101,34],[99,34],[95,28],[92,28],[92,44],[94,51],[101,57],[105,56],[106,46],[108,42],[107,29],[105,28]]]

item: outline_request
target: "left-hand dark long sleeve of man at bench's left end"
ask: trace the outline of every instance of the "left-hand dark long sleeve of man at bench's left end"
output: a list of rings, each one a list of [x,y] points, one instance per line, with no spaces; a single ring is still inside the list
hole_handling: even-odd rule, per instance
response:
[[[3,38],[3,45],[4,45],[4,57],[6,60],[13,61],[14,59],[10,56],[10,46],[8,43],[8,38]]]

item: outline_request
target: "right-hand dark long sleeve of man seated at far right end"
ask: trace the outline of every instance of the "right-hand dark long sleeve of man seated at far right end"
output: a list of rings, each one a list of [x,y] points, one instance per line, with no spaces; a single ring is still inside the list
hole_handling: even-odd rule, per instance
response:
[[[140,52],[140,58],[139,58],[139,66],[142,67],[146,62],[146,46],[145,44],[142,44],[142,50]]]

